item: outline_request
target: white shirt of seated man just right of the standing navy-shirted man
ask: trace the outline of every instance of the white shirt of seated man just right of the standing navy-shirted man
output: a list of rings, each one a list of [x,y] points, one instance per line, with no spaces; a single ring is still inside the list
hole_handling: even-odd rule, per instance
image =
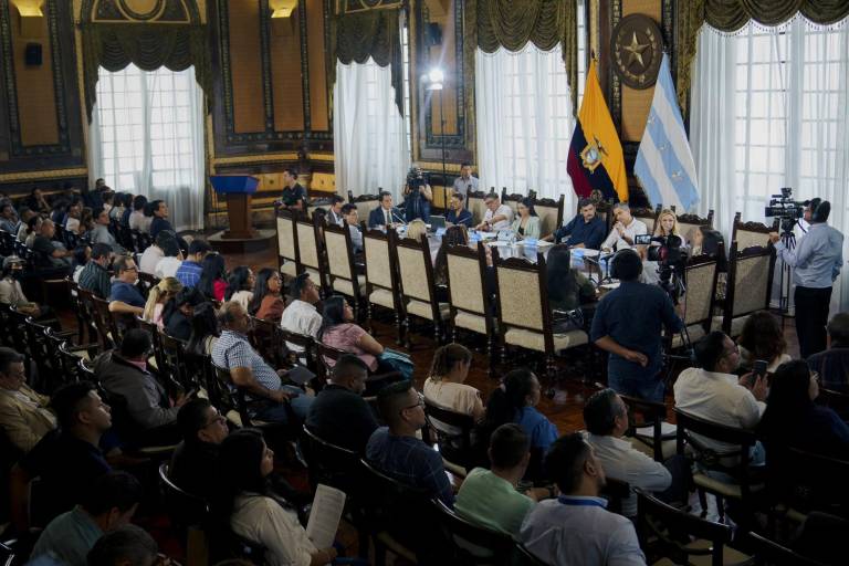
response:
[[[702,419],[753,429],[761,422],[766,403],[755,399],[752,391],[738,384],[737,376],[705,371],[698,367],[684,369],[674,386],[675,408]],[[693,434],[706,448],[717,452],[734,452],[734,444],[717,442]]]

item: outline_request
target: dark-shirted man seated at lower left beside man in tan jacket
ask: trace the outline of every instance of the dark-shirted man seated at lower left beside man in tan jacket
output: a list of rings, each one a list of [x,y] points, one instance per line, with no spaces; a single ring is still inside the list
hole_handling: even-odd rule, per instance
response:
[[[41,478],[39,492],[43,495],[43,509],[36,515],[50,521],[80,503],[94,481],[112,471],[98,448],[101,436],[112,427],[112,416],[94,385],[78,381],[62,386],[50,406],[56,412],[59,429],[48,432],[11,472],[12,521],[18,533],[29,527],[28,484],[34,478]]]

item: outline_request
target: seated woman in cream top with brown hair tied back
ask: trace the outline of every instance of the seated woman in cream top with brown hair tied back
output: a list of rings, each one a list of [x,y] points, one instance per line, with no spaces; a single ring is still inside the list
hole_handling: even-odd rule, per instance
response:
[[[475,421],[483,419],[484,409],[481,392],[465,385],[469,368],[472,366],[472,353],[460,344],[447,344],[437,348],[430,375],[424,380],[422,392],[429,401],[454,412],[470,415]],[[433,426],[449,434],[459,434],[451,427],[433,419]]]

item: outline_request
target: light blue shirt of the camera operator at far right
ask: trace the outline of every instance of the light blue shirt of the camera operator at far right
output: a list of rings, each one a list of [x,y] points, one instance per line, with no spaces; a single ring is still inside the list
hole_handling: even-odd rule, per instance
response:
[[[826,223],[810,224],[795,250],[775,244],[782,261],[794,268],[793,282],[809,289],[830,287],[843,264],[843,234]]]

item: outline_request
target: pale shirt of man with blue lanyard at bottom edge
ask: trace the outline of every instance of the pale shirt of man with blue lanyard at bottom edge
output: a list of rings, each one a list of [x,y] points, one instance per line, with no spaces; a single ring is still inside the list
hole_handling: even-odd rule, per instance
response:
[[[567,505],[560,502],[576,501]],[[531,553],[557,566],[644,566],[633,524],[610,513],[600,497],[564,497],[537,503],[520,538]]]

